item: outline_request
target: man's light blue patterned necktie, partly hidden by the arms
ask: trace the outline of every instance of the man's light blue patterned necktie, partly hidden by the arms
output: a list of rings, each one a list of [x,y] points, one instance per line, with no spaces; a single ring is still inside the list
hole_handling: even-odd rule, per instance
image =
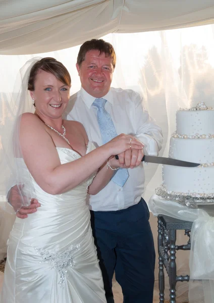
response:
[[[97,107],[97,121],[102,137],[102,143],[105,144],[117,136],[117,132],[112,121],[112,118],[108,112],[106,112],[105,106],[106,100],[103,98],[96,98],[93,102],[93,106]],[[126,168],[119,169],[112,177],[112,181],[123,187],[126,180],[129,177],[129,172]]]

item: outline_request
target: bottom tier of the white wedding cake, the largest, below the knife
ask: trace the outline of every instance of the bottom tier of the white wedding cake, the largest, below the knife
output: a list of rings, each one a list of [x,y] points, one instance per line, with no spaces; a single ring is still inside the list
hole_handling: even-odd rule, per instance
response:
[[[169,193],[214,196],[214,166],[163,166],[163,185]]]

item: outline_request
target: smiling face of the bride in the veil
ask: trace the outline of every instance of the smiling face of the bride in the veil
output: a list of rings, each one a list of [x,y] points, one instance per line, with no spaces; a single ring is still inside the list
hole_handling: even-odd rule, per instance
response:
[[[35,100],[36,113],[49,118],[61,118],[65,111],[70,87],[58,80],[53,74],[38,71],[34,90],[30,92]]]

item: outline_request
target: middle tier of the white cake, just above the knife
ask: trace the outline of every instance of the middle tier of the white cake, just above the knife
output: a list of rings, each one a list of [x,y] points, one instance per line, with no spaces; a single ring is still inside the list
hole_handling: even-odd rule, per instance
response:
[[[170,139],[169,157],[210,164],[214,162],[214,138],[212,139]],[[214,179],[213,179],[214,183]]]

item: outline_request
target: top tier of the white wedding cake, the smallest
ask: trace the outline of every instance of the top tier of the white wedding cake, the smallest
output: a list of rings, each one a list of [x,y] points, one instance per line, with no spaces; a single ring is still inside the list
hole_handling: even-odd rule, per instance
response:
[[[179,135],[195,136],[214,134],[214,110],[178,111],[176,132]]]

